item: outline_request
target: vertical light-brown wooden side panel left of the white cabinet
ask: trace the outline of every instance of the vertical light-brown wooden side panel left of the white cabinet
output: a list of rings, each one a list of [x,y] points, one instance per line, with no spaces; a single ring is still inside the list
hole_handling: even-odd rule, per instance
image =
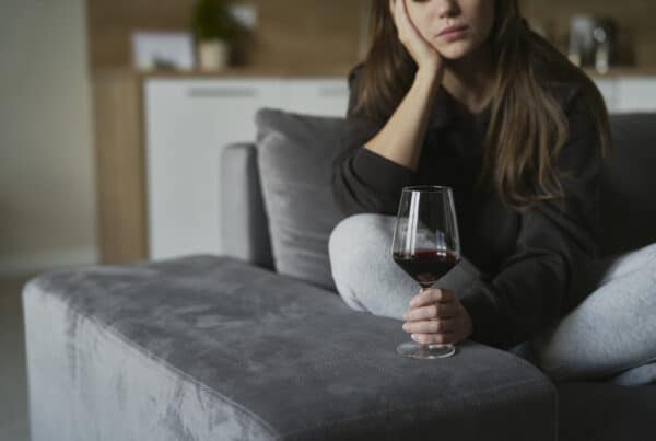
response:
[[[147,258],[145,162],[141,81],[99,72],[93,81],[97,240],[101,262]]]

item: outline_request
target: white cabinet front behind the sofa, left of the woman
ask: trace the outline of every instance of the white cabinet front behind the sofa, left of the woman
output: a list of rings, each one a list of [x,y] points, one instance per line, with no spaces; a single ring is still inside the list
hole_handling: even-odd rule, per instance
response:
[[[145,80],[149,257],[221,254],[221,152],[255,141],[258,108],[338,116],[347,102],[345,79]]]

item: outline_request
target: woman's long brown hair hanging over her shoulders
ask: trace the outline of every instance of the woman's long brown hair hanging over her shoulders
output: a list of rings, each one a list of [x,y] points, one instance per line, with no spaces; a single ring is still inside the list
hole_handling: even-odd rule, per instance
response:
[[[582,85],[584,112],[598,128],[601,155],[610,150],[608,112],[585,72],[528,27],[517,0],[494,1],[488,44],[497,67],[479,184],[491,179],[506,206],[524,210],[563,196],[555,162],[569,137],[567,118],[547,84]],[[382,120],[410,89],[417,65],[397,37],[389,0],[373,0],[370,20],[372,44],[352,112]]]

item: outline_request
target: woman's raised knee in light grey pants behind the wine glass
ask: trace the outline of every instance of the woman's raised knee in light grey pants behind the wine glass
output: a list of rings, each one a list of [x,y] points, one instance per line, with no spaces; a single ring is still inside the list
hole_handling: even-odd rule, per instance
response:
[[[328,249],[337,290],[349,306],[402,320],[420,287],[391,258],[395,222],[394,216],[351,216],[335,228]],[[462,259],[436,286],[457,293],[477,277],[473,265]]]

